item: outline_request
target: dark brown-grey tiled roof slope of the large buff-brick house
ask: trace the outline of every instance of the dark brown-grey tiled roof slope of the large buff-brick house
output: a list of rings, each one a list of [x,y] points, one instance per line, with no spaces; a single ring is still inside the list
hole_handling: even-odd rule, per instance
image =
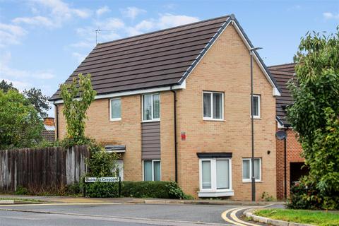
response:
[[[230,16],[97,44],[66,83],[91,73],[97,95],[179,85]],[[61,99],[60,90],[50,100]]]

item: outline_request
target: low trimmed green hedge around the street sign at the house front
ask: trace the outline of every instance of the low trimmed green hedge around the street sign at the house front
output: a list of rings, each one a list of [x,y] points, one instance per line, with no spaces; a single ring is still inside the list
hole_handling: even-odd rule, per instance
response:
[[[85,196],[92,198],[119,197],[119,183],[85,184]],[[121,182],[121,196],[133,198],[191,199],[175,182]]]

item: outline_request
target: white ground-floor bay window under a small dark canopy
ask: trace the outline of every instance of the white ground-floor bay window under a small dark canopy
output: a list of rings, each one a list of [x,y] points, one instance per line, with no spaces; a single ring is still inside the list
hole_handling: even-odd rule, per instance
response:
[[[199,159],[199,197],[232,196],[232,160],[230,158]]]

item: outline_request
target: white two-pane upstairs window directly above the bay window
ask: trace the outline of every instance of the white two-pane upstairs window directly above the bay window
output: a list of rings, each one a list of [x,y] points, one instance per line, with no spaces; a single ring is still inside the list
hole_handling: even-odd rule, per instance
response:
[[[224,119],[224,93],[203,91],[203,119]]]

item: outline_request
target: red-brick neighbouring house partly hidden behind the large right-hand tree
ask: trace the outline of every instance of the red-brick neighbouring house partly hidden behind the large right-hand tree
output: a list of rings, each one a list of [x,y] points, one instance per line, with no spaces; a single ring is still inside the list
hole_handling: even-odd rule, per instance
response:
[[[270,74],[275,78],[281,90],[281,95],[276,97],[277,129],[285,130],[286,138],[286,178],[285,178],[285,150],[284,141],[277,140],[277,198],[285,198],[290,194],[290,186],[300,177],[308,174],[304,166],[304,158],[300,156],[302,146],[297,141],[297,133],[293,131],[287,121],[286,107],[293,104],[292,95],[287,88],[287,82],[295,76],[295,64],[281,64],[268,67]],[[285,184],[287,186],[285,186]],[[286,191],[285,191],[286,189]]]

